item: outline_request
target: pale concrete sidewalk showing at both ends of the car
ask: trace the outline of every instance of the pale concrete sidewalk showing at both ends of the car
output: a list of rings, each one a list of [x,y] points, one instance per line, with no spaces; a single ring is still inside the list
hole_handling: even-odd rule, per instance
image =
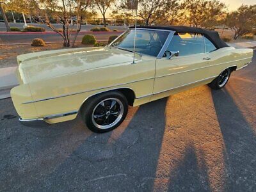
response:
[[[236,44],[228,44],[236,48],[256,48],[256,41],[239,42]],[[0,68],[0,99],[10,97],[10,89],[17,86],[18,81],[15,76],[17,67]]]

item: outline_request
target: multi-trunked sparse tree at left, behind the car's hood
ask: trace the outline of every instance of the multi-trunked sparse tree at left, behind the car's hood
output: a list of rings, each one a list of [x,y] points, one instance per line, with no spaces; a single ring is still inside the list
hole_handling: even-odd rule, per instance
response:
[[[91,6],[91,0],[10,0],[8,6],[16,12],[31,13],[33,11],[37,20],[63,38],[64,47],[73,47],[81,31],[86,9]],[[52,25],[54,19],[62,24],[61,30]],[[74,27],[76,34],[71,44],[70,39]]]

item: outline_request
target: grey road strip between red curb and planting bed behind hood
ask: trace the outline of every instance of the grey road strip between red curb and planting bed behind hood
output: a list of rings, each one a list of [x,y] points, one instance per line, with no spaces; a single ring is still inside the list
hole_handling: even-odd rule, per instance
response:
[[[88,34],[92,34],[95,36],[95,38],[98,41],[106,41],[108,40],[109,36],[111,35],[120,35],[122,32],[100,32],[100,33],[92,33],[88,32]],[[87,33],[86,33],[87,34]],[[79,34],[77,36],[77,42],[81,41],[83,36],[85,34]],[[3,35],[0,34],[0,44],[19,44],[19,43],[31,43],[34,38],[42,38],[45,42],[61,42],[62,38],[60,35],[57,33],[53,34],[8,34],[8,35]],[[72,39],[74,36],[72,36]]]

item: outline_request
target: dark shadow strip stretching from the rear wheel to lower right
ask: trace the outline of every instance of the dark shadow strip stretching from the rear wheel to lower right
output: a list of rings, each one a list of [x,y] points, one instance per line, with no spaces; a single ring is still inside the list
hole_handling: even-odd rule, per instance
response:
[[[225,191],[255,191],[255,132],[237,107],[229,90],[228,87],[228,90],[225,88],[212,91],[214,108],[225,143]]]

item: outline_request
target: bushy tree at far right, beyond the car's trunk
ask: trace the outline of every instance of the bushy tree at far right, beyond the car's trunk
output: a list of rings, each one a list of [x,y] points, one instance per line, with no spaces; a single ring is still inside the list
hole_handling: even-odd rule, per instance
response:
[[[256,4],[252,6],[242,5],[237,11],[227,15],[226,25],[234,31],[234,39],[251,33],[256,26]]]

